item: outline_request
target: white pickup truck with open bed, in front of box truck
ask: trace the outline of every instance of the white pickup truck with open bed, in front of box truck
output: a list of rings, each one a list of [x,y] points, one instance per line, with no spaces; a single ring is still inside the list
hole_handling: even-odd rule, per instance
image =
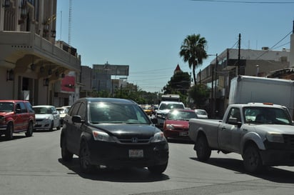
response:
[[[294,166],[294,125],[285,106],[230,104],[222,121],[190,119],[188,134],[199,161],[218,150],[242,155],[250,173],[264,166]]]

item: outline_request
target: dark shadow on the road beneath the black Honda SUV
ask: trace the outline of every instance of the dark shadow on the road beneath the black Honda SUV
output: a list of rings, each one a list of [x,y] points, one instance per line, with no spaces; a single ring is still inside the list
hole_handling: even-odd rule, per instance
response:
[[[97,181],[113,181],[113,182],[154,182],[168,180],[166,174],[151,174],[148,169],[140,168],[125,168],[125,169],[109,169],[100,168],[93,171],[91,174],[83,174],[79,168],[78,158],[72,159],[71,162],[64,162],[59,159],[59,163],[63,164],[74,173],[85,179]],[[73,173],[69,173],[73,174]]]

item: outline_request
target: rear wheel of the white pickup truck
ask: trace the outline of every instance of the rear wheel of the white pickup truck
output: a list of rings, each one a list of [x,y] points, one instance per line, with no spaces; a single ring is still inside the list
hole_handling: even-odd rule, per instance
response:
[[[196,154],[199,161],[207,161],[211,157],[211,148],[205,136],[200,136],[196,142]]]

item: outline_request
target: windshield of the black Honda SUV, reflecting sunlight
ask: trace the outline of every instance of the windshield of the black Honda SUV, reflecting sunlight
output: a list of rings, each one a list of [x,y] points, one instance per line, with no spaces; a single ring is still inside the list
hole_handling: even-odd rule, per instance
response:
[[[148,116],[136,104],[91,103],[89,119],[93,124],[150,124]]]

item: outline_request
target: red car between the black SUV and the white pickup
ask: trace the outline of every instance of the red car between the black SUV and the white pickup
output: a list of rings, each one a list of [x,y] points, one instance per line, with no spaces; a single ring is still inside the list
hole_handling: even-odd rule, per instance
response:
[[[197,118],[196,112],[192,109],[172,109],[169,111],[163,123],[163,134],[166,139],[189,140],[189,120],[192,118]]]

